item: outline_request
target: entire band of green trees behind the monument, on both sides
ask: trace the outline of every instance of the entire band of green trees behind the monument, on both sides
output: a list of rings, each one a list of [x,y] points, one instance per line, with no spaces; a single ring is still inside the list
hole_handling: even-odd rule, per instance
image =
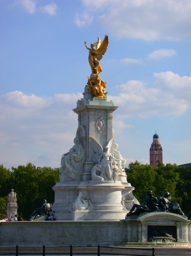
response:
[[[162,164],[152,168],[137,161],[125,168],[128,183],[135,187],[134,196],[142,203],[147,191],[152,190],[157,198],[165,189],[171,193],[184,213],[191,218],[191,166],[178,167],[176,164]],[[59,168],[26,166],[7,169],[0,165],[0,214],[7,213],[7,194],[11,188],[17,193],[18,214],[26,219],[33,210],[42,205],[44,199],[54,202],[52,187],[59,181]]]

